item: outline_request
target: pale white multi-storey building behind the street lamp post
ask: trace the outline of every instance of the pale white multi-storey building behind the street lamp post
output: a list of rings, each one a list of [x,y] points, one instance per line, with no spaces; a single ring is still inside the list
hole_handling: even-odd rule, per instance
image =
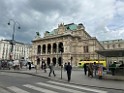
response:
[[[10,60],[11,40],[0,41],[0,60]],[[30,44],[15,42],[12,59],[28,59],[30,55]]]

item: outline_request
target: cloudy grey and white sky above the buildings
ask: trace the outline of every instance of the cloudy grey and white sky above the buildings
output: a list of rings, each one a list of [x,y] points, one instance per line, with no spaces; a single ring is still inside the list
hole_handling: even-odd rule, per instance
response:
[[[82,23],[99,41],[124,39],[124,0],[0,0],[0,39],[12,38],[11,19],[15,40],[24,43],[60,23]]]

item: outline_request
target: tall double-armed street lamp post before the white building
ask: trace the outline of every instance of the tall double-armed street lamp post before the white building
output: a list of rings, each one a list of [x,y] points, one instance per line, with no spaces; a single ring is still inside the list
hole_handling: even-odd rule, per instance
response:
[[[10,42],[11,44],[11,50],[10,50],[10,60],[12,60],[12,55],[13,55],[13,47],[14,47],[14,35],[15,35],[15,30],[16,30],[16,24],[18,24],[18,29],[20,29],[20,24],[17,21],[14,21],[13,19],[10,19],[8,22],[8,25],[11,25],[10,22],[13,22],[13,33],[12,33],[12,40]]]

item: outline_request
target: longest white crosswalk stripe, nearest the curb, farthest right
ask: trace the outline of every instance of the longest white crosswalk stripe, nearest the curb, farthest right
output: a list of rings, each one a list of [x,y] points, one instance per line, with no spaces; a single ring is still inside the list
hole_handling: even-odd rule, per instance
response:
[[[57,85],[62,85],[62,86],[67,86],[67,87],[72,87],[72,88],[77,88],[77,89],[83,89],[87,91],[93,91],[97,93],[108,93],[107,91],[102,91],[102,90],[97,90],[97,89],[91,89],[87,87],[82,87],[82,86],[76,86],[76,85],[70,85],[70,84],[64,84],[64,83],[59,83],[59,82],[54,82],[54,81],[48,81],[51,84],[57,84]]]

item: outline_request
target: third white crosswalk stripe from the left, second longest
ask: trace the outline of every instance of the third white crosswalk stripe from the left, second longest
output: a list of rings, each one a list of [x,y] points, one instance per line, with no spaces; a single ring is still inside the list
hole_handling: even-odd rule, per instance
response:
[[[78,91],[78,90],[74,90],[74,89],[69,89],[69,88],[64,88],[64,87],[60,87],[60,86],[56,86],[56,85],[52,85],[52,84],[46,84],[46,83],[42,83],[42,82],[39,82],[36,84],[46,86],[46,87],[55,88],[55,89],[59,89],[59,90],[64,90],[64,91],[71,92],[71,93],[86,93],[86,92],[82,92],[82,91]]]

